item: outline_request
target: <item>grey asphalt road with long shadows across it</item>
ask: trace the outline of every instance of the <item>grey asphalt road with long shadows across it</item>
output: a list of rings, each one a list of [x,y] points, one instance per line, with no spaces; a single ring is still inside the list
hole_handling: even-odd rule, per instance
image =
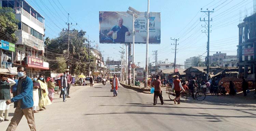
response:
[[[207,96],[204,101],[186,100],[174,105],[163,94],[164,105],[153,106],[153,94],[138,93],[120,87],[112,97],[110,83],[94,87],[71,87],[71,98],[62,102],[55,95],[52,105],[35,113],[39,131],[253,131],[256,102],[231,96]],[[163,91],[164,92],[164,91]],[[13,116],[11,106],[9,119]],[[4,131],[9,122],[0,123]],[[17,131],[29,130],[26,118]]]

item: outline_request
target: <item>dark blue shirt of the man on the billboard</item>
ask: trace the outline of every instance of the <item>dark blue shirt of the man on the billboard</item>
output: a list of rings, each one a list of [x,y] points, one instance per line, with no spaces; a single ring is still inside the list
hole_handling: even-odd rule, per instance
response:
[[[110,31],[117,32],[117,38],[113,39],[113,42],[125,42],[125,33],[128,32],[127,27],[124,25],[120,28],[120,26],[115,25],[111,28]]]

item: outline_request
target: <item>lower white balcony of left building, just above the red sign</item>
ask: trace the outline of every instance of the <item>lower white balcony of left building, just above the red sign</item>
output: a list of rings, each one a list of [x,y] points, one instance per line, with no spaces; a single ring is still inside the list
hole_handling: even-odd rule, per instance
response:
[[[16,42],[16,44],[24,44],[34,49],[44,51],[44,41],[22,30],[18,30],[15,34],[18,37],[18,41]]]

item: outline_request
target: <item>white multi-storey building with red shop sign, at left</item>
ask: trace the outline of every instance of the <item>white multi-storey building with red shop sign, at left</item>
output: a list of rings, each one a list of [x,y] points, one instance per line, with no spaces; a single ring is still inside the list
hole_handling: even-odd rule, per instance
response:
[[[13,8],[19,20],[18,31],[15,33],[18,41],[12,53],[14,67],[26,66],[29,77],[49,70],[49,64],[43,61],[44,17],[25,0],[1,0],[0,5]]]

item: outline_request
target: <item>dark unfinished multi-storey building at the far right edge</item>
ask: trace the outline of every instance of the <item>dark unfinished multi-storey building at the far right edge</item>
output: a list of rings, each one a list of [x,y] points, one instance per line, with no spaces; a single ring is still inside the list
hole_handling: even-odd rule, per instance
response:
[[[244,18],[239,28],[239,73],[247,80],[255,80],[256,74],[256,14]]]

